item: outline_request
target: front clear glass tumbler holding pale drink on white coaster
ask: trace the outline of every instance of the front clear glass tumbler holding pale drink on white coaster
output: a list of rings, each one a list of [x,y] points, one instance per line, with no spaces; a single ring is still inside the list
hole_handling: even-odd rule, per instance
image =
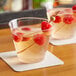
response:
[[[9,22],[18,59],[36,63],[44,59],[49,44],[50,29],[41,29],[44,18],[24,17]]]

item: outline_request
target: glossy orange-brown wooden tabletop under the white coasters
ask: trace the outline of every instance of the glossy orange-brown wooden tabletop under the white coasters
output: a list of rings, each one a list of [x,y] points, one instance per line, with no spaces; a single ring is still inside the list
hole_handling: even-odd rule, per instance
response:
[[[53,49],[51,49],[53,47]],[[0,52],[15,50],[10,29],[0,30]],[[0,59],[0,76],[76,76],[76,44],[53,46],[48,50],[64,61],[64,65],[15,72]]]

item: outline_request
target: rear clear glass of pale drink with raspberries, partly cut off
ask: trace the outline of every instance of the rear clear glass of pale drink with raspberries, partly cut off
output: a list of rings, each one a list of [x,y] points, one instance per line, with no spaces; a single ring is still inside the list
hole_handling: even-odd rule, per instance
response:
[[[49,22],[53,26],[51,37],[53,39],[70,39],[76,31],[76,13],[72,7],[61,5],[47,11]]]

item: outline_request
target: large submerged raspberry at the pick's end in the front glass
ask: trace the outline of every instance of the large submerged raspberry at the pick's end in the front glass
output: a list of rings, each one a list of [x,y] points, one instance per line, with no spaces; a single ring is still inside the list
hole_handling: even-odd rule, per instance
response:
[[[38,45],[43,45],[45,43],[45,36],[43,34],[34,35],[34,42]]]

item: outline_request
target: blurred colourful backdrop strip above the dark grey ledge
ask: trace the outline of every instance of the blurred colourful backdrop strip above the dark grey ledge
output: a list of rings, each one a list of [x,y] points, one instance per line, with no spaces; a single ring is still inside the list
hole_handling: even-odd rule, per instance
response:
[[[76,0],[0,0],[0,13],[76,4]]]

